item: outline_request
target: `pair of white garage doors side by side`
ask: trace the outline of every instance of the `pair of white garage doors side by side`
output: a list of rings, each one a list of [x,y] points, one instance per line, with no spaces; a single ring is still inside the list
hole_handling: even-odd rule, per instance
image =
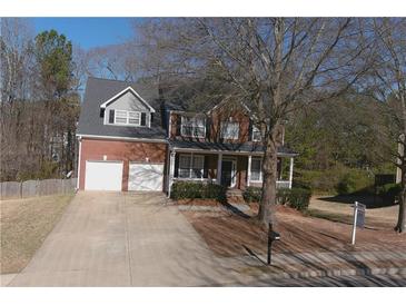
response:
[[[129,163],[123,173],[123,161],[87,160],[85,171],[86,190],[120,191],[127,181],[128,190],[162,190],[164,164]],[[123,179],[126,173],[128,179]]]

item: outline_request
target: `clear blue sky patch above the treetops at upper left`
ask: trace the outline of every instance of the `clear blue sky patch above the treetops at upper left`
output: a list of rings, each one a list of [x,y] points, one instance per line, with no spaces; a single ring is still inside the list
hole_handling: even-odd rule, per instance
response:
[[[129,18],[32,18],[32,21],[36,33],[55,29],[83,49],[119,43],[132,36]]]

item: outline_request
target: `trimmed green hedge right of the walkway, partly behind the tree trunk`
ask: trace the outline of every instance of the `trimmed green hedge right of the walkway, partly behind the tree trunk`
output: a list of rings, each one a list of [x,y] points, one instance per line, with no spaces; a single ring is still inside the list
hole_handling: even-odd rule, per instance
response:
[[[261,196],[261,188],[247,187],[242,194],[244,199],[248,203],[258,203]],[[277,189],[277,201],[281,205],[288,205],[297,210],[306,210],[309,206],[311,190],[306,188],[280,188]]]

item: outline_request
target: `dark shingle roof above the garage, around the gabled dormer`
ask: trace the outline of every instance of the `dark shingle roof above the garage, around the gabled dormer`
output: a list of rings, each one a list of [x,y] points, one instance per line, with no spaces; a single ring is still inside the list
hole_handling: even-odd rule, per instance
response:
[[[100,105],[123,89],[132,87],[155,110],[151,128],[103,125]],[[141,83],[89,77],[78,125],[78,135],[109,137],[132,137],[165,139],[166,130],[161,127],[158,88]]]

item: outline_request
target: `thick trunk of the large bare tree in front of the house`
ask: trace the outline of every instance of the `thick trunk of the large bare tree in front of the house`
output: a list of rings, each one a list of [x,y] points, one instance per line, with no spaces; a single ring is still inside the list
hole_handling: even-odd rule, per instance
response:
[[[276,180],[277,180],[277,126],[267,135],[263,159],[263,194],[259,204],[258,220],[268,226],[275,223]]]

